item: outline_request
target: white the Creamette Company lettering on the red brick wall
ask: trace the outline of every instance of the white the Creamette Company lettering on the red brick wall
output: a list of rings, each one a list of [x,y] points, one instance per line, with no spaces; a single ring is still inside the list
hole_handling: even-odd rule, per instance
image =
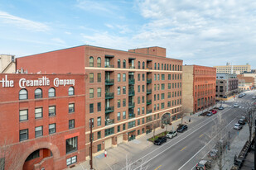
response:
[[[19,82],[19,87],[21,88],[50,86],[50,79],[46,78],[46,76],[43,76],[42,78],[33,79],[33,80],[20,78],[18,82]],[[7,75],[5,75],[5,77],[2,78],[2,80],[0,80],[0,83],[2,83],[2,87],[14,87],[14,80],[8,80]],[[65,85],[75,86],[75,79],[55,78],[53,80],[53,85],[55,87],[65,86]]]

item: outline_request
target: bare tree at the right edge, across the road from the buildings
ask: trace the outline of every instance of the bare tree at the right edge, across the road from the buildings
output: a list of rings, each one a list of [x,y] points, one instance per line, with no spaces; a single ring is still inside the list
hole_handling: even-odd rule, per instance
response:
[[[255,102],[247,102],[246,108],[242,109],[242,115],[245,117],[245,122],[249,126],[249,142],[252,141],[254,121],[256,118],[256,104]]]

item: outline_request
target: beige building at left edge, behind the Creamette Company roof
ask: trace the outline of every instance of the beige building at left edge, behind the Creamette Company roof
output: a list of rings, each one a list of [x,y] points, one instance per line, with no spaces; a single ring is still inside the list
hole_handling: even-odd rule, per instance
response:
[[[15,56],[9,54],[0,54],[0,73],[15,73]]]

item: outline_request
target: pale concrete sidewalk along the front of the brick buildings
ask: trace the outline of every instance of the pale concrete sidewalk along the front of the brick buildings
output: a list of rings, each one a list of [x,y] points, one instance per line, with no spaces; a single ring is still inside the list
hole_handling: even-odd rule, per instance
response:
[[[225,105],[223,105],[225,106]],[[205,109],[203,112],[207,111],[207,109]],[[197,112],[194,115],[187,115],[183,118],[183,123],[186,122],[187,125],[190,124],[194,124],[196,125],[196,121],[203,119],[204,116],[198,116],[200,113],[202,113],[202,111]],[[189,119],[191,119],[191,122],[189,122]],[[181,123],[181,119],[180,120],[175,120],[172,121],[172,125],[168,125],[168,129],[167,130],[176,130],[177,125],[179,125]],[[157,128],[155,134],[159,134],[163,131],[165,131],[166,128],[162,129]],[[107,149],[108,152],[108,156],[107,158],[104,158],[104,153],[99,154],[98,156],[95,156],[93,158],[93,162],[94,162],[94,169],[95,170],[104,170],[104,169],[111,169],[113,168],[114,165],[116,165],[117,163],[123,162],[123,166],[122,167],[118,167],[118,168],[123,168],[125,167],[125,159],[126,159],[126,155],[128,156],[128,158],[132,158],[133,155],[138,155],[139,153],[141,153],[142,151],[146,150],[146,149],[150,149],[151,146],[153,145],[152,142],[147,141],[148,138],[152,137],[152,132],[149,134],[143,134],[143,135],[139,135],[136,136],[136,139],[133,139],[132,141],[128,142],[128,143],[123,143],[123,144],[118,144],[118,147],[112,147],[110,149]],[[109,168],[111,167],[111,168]],[[83,162],[83,163],[78,163],[75,165],[74,168],[67,168],[67,169],[72,169],[72,170],[80,170],[80,169],[84,169],[84,170],[89,170],[89,160]],[[115,170],[116,170],[116,166],[115,166]]]

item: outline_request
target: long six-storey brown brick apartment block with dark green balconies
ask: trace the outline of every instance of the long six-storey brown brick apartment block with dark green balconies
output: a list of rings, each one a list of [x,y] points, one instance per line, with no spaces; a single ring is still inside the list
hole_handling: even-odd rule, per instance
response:
[[[85,155],[89,157],[89,120],[93,153],[103,153],[158,126],[181,118],[182,60],[166,49],[129,51],[82,45],[17,59],[28,73],[85,74]]]

